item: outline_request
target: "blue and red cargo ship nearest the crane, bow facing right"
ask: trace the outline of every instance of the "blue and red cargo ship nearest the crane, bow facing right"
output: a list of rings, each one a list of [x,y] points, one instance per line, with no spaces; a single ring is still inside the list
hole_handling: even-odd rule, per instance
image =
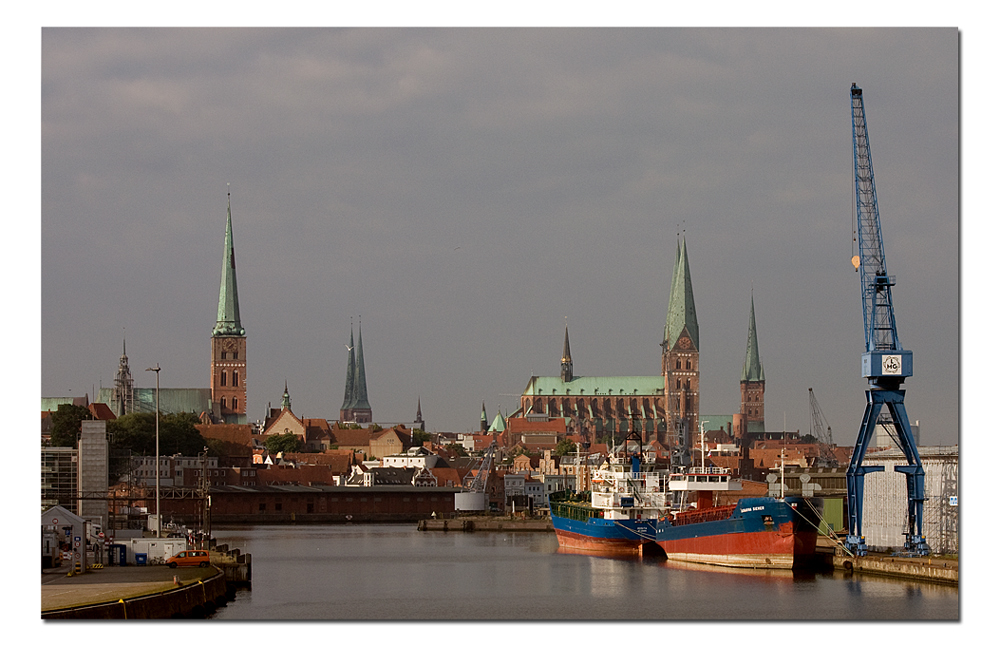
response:
[[[668,488],[697,496],[694,509],[658,519],[656,544],[669,560],[778,569],[812,563],[822,500],[742,498],[714,506],[715,492],[741,489],[727,469],[715,467],[671,474]]]

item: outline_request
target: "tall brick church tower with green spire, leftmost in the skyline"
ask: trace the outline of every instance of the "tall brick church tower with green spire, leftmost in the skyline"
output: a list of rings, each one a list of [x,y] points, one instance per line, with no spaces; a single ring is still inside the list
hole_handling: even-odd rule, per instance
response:
[[[212,330],[212,412],[227,424],[247,420],[247,335],[240,323],[240,299],[236,290],[236,256],[233,254],[233,210],[226,196],[226,243],[222,259],[219,310]]]

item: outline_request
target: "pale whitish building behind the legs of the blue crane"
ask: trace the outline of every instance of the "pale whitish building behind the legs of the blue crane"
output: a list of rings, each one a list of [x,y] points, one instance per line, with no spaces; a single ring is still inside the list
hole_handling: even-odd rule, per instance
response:
[[[924,467],[923,534],[933,553],[958,553],[958,446],[920,446]],[[906,476],[897,465],[906,458],[899,449],[886,449],[865,456],[863,464],[882,465],[885,471],[865,476],[865,499],[861,530],[865,543],[876,550],[903,547],[907,531]]]

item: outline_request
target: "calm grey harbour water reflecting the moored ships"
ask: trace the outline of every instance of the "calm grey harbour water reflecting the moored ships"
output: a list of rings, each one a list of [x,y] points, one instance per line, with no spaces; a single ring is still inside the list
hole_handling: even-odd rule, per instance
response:
[[[957,620],[959,591],[560,553],[551,533],[407,525],[220,528],[253,555],[236,620]]]

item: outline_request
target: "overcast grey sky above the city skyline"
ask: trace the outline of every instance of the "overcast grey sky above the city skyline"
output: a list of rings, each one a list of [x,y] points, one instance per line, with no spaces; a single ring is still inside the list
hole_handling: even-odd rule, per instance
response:
[[[954,24],[943,22],[940,24]],[[865,408],[850,87],[864,90],[906,408],[959,439],[960,32],[43,29],[41,395],[207,388],[227,192],[249,417],[478,429],[532,375],[658,375],[686,240],[701,413]]]

